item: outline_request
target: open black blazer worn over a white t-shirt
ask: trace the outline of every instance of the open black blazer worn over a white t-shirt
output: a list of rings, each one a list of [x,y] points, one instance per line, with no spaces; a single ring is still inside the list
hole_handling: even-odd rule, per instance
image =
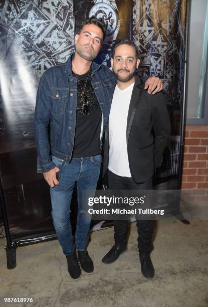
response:
[[[170,135],[170,119],[162,92],[148,94],[135,78],[126,129],[128,160],[135,183],[146,182],[160,166],[163,150]],[[119,112],[119,110],[118,110]],[[103,176],[108,170],[109,133],[105,133]]]

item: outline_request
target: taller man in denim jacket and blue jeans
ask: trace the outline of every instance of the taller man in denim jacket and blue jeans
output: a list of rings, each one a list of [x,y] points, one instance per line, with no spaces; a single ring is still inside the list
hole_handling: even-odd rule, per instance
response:
[[[54,227],[67,258],[69,274],[74,279],[81,277],[81,268],[88,274],[94,271],[86,251],[90,220],[83,217],[82,191],[94,191],[97,186],[102,138],[116,85],[113,72],[93,62],[105,34],[106,25],[102,20],[87,19],[75,36],[76,52],[66,64],[51,67],[43,74],[37,93],[38,173],[43,173],[50,185]],[[151,77],[145,88],[156,93],[162,89],[161,81]],[[78,191],[75,234],[78,257],[70,223],[75,184]]]

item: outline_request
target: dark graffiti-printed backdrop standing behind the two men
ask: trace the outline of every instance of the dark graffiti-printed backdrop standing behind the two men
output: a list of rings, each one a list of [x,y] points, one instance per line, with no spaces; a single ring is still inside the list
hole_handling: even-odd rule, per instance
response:
[[[172,135],[155,189],[176,189],[182,81],[185,5],[182,0],[120,0],[109,18],[112,1],[2,1],[0,36],[0,174],[12,242],[51,238],[49,187],[36,172],[33,117],[37,85],[43,72],[64,63],[74,51],[74,35],[90,10],[99,5],[118,33],[107,37],[97,62],[109,64],[113,43],[132,38],[140,49],[139,74],[162,78],[171,115]],[[73,222],[76,222],[76,197]],[[96,224],[96,222],[94,222]],[[108,226],[107,224],[106,226]],[[103,227],[97,224],[93,229]],[[37,239],[37,240],[39,240]],[[21,243],[20,242],[20,243]]]

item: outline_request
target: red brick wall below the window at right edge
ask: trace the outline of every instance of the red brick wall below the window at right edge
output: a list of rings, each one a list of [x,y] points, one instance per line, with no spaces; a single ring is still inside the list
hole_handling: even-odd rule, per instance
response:
[[[186,126],[182,189],[208,189],[208,126]]]

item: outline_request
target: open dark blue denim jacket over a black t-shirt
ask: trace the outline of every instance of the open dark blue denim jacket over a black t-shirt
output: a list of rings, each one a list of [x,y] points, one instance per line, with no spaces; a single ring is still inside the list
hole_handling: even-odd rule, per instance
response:
[[[35,109],[35,140],[38,173],[52,170],[52,156],[70,162],[74,146],[77,78],[72,74],[70,56],[65,64],[49,68],[42,76]],[[116,78],[107,66],[92,63],[91,82],[102,110],[100,148],[108,122]]]

